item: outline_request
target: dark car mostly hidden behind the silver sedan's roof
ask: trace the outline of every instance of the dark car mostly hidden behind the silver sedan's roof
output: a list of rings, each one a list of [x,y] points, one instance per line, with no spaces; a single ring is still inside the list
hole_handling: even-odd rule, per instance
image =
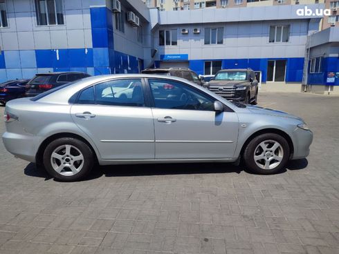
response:
[[[195,84],[202,86],[204,84],[203,81],[199,78],[199,76],[193,70],[189,68],[155,68],[155,69],[145,69],[141,71],[143,74],[156,74],[156,75],[167,75],[174,77],[182,77],[183,79],[187,79],[189,81],[194,82]]]

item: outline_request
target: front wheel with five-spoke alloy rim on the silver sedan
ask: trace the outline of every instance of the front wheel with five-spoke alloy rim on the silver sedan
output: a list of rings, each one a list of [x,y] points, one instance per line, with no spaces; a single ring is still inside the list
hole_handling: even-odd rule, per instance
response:
[[[288,142],[281,135],[266,133],[253,138],[244,150],[244,162],[253,173],[271,175],[286,166],[290,156]]]

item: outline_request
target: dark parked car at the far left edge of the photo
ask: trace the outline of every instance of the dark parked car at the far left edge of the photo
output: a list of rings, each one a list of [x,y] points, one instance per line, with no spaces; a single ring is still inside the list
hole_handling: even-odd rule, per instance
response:
[[[29,79],[16,79],[0,84],[0,103],[6,104],[11,99],[24,97],[28,81]]]

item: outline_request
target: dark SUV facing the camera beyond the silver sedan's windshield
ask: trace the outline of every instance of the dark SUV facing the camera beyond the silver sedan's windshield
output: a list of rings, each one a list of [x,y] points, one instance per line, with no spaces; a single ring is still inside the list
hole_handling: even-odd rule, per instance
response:
[[[204,86],[230,101],[257,104],[258,81],[250,68],[219,70]]]

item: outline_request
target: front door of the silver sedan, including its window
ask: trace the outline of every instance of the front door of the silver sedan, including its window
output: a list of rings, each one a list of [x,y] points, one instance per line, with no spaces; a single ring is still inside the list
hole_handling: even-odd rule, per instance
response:
[[[214,111],[214,99],[179,81],[148,79],[156,159],[227,159],[238,137],[234,112]]]

